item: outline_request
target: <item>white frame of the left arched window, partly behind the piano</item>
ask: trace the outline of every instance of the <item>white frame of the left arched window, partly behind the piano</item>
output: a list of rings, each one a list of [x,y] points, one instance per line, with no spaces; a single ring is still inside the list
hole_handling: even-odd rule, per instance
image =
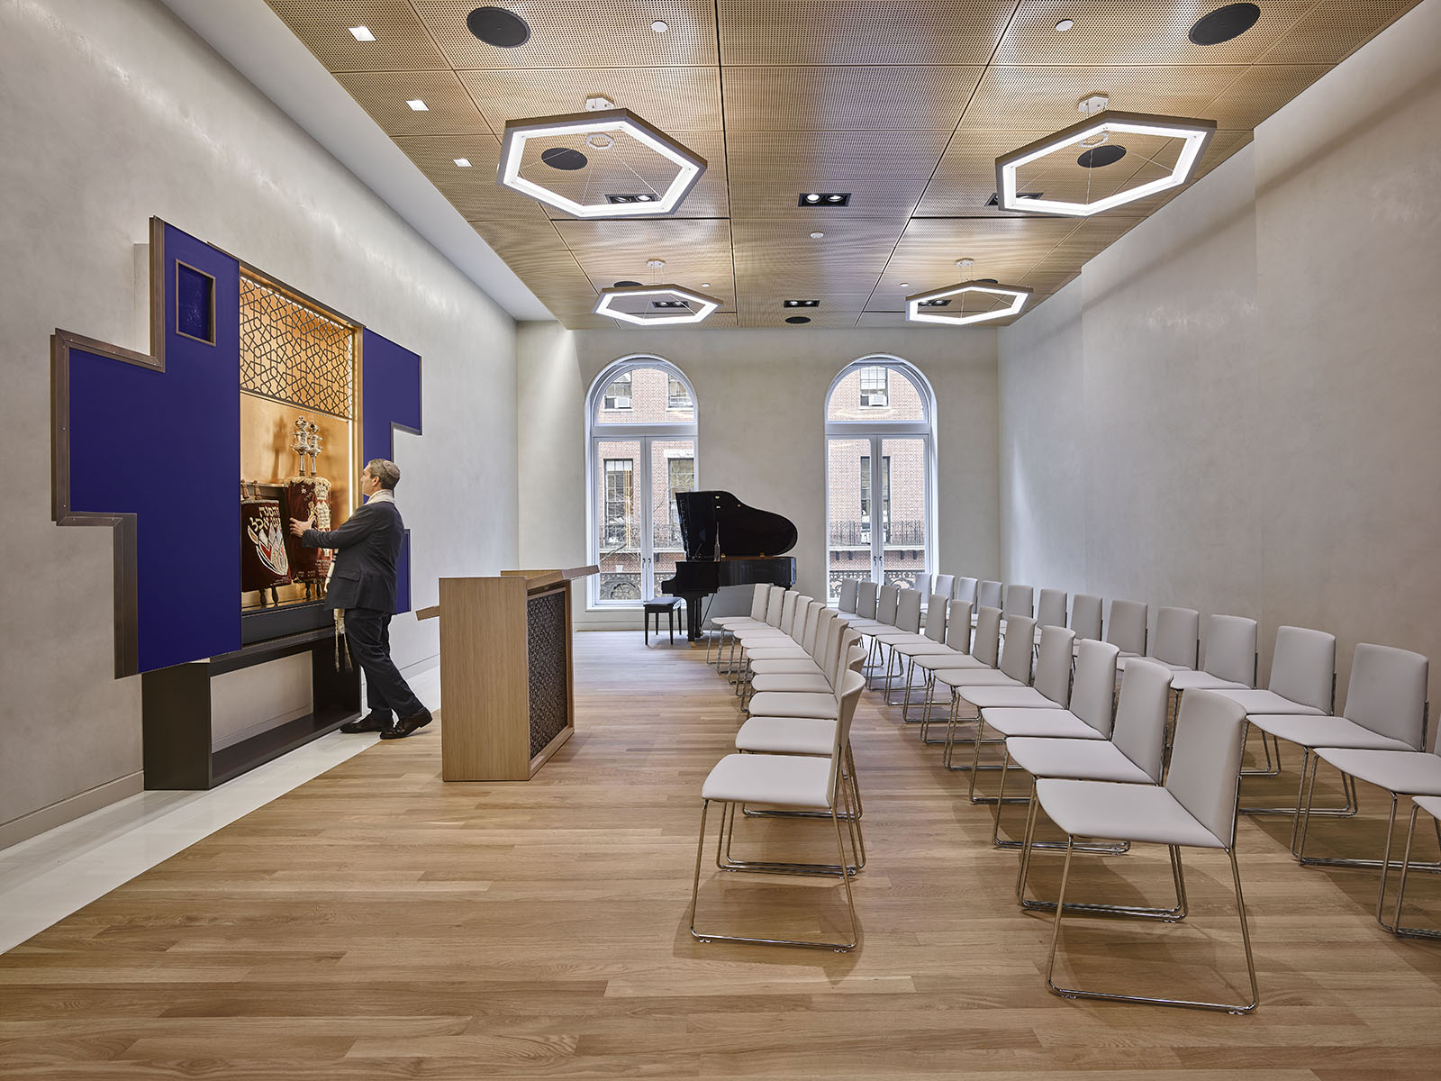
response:
[[[669,379],[676,379],[682,386],[686,388],[686,393],[690,395],[690,409],[692,419],[682,422],[657,422],[657,424],[627,424],[627,422],[604,422],[597,419],[597,414],[601,409],[601,402],[605,398],[605,391],[610,389],[611,383],[620,376],[634,372],[638,368],[656,368],[666,373]],[[669,405],[669,391],[670,383],[666,383],[667,405]],[[634,393],[634,388],[633,388]],[[633,398],[634,401],[634,398]],[[700,489],[700,440],[697,437],[700,421],[700,404],[696,401],[696,388],[692,386],[690,379],[670,360],[661,356],[654,356],[653,353],[631,353],[630,356],[623,356],[618,360],[610,363],[598,376],[595,382],[591,383],[591,392],[585,396],[585,483],[586,483],[586,497],[585,497],[585,551],[588,562],[599,562],[601,558],[601,539],[599,539],[599,520],[604,507],[597,506],[602,499],[601,496],[601,476],[599,470],[604,466],[601,458],[599,445],[602,442],[615,441],[635,441],[640,444],[640,468],[635,471],[634,484],[640,493],[640,551],[641,551],[641,574],[640,574],[640,592],[641,600],[644,597],[656,595],[656,588],[660,585],[654,579],[654,528],[653,515],[654,507],[653,493],[654,484],[651,477],[651,444],[656,440],[690,440],[692,453],[684,457],[695,458],[695,479],[696,489]],[[667,455],[672,457],[672,455]],[[673,457],[682,457],[677,451]],[[669,483],[669,477],[667,477]],[[601,577],[591,575],[586,585],[586,608],[601,608],[605,611],[615,611],[618,608],[640,608],[641,601],[608,601],[601,600]]]

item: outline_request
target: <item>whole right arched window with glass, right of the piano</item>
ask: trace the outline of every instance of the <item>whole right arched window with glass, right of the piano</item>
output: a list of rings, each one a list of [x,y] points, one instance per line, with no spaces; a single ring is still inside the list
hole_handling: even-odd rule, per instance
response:
[[[934,566],[935,395],[912,365],[866,356],[826,395],[826,579],[922,588]]]

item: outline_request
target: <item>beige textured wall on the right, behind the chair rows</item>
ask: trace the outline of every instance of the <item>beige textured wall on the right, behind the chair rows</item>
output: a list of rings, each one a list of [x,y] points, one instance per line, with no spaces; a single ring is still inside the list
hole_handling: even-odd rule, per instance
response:
[[[1441,662],[1441,0],[1001,332],[1007,577]],[[1084,408],[1082,408],[1084,406]],[[1441,700],[1432,669],[1432,700]]]

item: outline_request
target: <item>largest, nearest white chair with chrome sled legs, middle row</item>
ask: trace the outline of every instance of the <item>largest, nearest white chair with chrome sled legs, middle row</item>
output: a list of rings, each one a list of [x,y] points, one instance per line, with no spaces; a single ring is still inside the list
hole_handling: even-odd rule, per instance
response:
[[[1225,1010],[1226,1013],[1249,1013],[1257,1007],[1261,996],[1257,989],[1255,960],[1251,954],[1246,907],[1241,894],[1241,868],[1236,863],[1236,793],[1244,724],[1245,713],[1238,703],[1221,698],[1215,690],[1197,690],[1193,695],[1186,695],[1182,702],[1182,715],[1176,722],[1176,745],[1164,786],[1059,778],[1036,781],[1039,809],[1066,835],[1066,860],[1061,872],[1061,891],[1055,902],[1055,924],[1050,934],[1050,957],[1046,963],[1046,987],[1052,993],[1068,999],[1192,1006]],[[1068,904],[1066,885],[1071,878],[1071,859],[1075,855],[1076,837],[1167,846],[1176,885],[1176,905],[1172,908],[1140,908],[1136,905]],[[1251,1000],[1239,1003],[1208,1002],[1059,986],[1055,982],[1056,953],[1061,944],[1061,922],[1068,912],[1130,915],[1167,922],[1182,920],[1186,915],[1182,848],[1219,849],[1231,858],[1231,876],[1236,886],[1236,911],[1241,918],[1241,941],[1245,947],[1246,971],[1251,977]]]

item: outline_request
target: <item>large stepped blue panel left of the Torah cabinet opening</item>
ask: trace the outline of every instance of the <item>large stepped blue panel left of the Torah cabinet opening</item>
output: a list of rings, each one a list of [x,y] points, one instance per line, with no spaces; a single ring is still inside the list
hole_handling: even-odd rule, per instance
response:
[[[176,259],[215,277],[215,344],[176,333]],[[71,509],[137,516],[140,670],[241,646],[239,267],[164,228],[166,370],[71,350]]]

